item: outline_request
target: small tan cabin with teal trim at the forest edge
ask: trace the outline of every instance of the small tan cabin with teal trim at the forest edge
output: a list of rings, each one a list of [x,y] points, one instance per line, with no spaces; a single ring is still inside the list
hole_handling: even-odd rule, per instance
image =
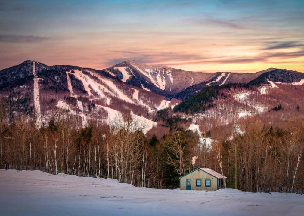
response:
[[[197,168],[179,179],[181,190],[216,191],[224,187],[227,177],[209,168]]]

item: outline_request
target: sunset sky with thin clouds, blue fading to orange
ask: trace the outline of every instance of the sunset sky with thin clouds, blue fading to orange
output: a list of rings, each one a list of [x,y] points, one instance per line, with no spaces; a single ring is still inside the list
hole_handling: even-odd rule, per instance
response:
[[[0,0],[0,69],[33,59],[304,72],[304,1]]]

